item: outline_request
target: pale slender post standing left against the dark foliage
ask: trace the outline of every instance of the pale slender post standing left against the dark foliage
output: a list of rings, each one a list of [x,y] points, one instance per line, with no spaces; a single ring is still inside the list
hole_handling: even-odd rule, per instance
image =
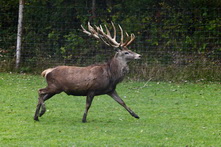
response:
[[[20,61],[21,61],[22,21],[23,21],[24,1],[25,0],[19,0],[16,65],[15,65],[16,69],[18,69]]]

